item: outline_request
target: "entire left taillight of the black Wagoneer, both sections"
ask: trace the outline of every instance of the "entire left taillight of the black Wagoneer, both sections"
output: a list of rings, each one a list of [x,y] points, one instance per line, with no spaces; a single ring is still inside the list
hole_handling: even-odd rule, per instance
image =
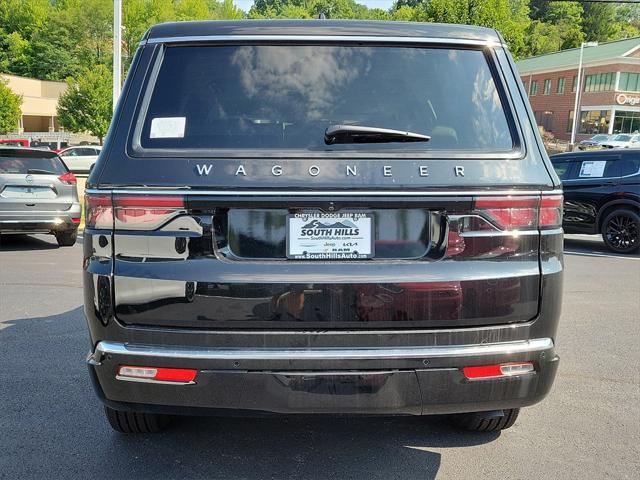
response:
[[[154,230],[186,211],[184,197],[177,195],[89,194],[85,198],[88,228]]]

